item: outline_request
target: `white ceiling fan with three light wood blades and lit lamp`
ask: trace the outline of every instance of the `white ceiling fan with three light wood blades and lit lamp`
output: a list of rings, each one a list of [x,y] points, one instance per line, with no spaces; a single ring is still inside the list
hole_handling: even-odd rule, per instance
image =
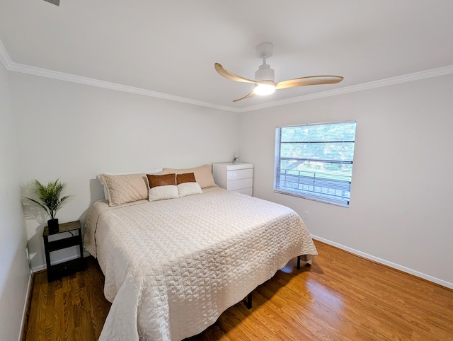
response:
[[[246,96],[238,98],[237,100],[233,100],[233,102],[250,98],[253,95],[270,95],[271,93],[274,93],[275,90],[279,89],[317,84],[333,84],[343,81],[342,76],[308,76],[275,83],[274,70],[270,69],[269,64],[266,64],[266,59],[272,57],[273,50],[274,45],[270,42],[262,42],[261,44],[256,45],[256,57],[263,59],[263,65],[260,65],[258,70],[255,71],[255,80],[246,79],[242,76],[238,76],[237,74],[233,74],[232,72],[224,69],[224,67],[222,67],[219,63],[214,64],[217,73],[220,76],[224,76],[226,79],[231,79],[231,81],[240,81],[243,83],[253,83],[253,90],[251,93],[248,93]]]

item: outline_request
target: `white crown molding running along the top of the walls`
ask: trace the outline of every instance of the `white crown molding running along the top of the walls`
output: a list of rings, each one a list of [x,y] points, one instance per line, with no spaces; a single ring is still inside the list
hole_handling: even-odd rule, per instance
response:
[[[125,86],[123,84],[111,83],[108,81],[100,81],[98,79],[76,76],[74,74],[65,74],[64,72],[53,71],[49,69],[41,69],[39,67],[30,67],[29,65],[24,64],[18,64],[11,61],[11,58],[9,57],[8,52],[6,52],[6,49],[1,40],[0,40],[0,62],[4,65],[5,69],[8,71],[20,72],[23,74],[31,74],[34,76],[46,77],[50,79],[57,79],[60,81],[69,81],[71,83],[80,83],[88,86],[96,86],[98,88],[108,88],[110,90],[123,91],[126,93],[135,93],[137,95],[161,98],[164,100],[173,100],[175,102],[198,105],[201,107],[219,109],[230,112],[248,112],[253,110],[272,108],[280,105],[304,102],[306,100],[315,100],[324,97],[338,96],[343,95],[344,93],[355,93],[357,91],[364,91],[372,88],[382,88],[384,86],[391,86],[398,83],[407,83],[411,81],[418,81],[420,79],[428,79],[453,74],[453,65],[449,65],[447,67],[439,67],[436,69],[414,72],[413,74],[405,74],[403,76],[381,79],[379,81],[370,81],[368,83],[357,84],[354,86],[346,86],[344,88],[337,88],[334,90],[323,91],[320,93],[311,93],[309,95],[287,98],[284,100],[275,100],[273,102],[258,105],[249,105],[243,108],[234,108],[229,105],[219,105],[210,102],[203,102],[202,100],[194,100],[192,98],[174,96],[168,93],[159,93],[157,91],[146,90],[143,88],[135,88],[134,86]]]

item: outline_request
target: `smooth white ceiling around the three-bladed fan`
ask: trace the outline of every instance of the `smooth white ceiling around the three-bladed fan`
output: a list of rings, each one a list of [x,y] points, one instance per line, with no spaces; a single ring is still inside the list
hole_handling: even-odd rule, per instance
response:
[[[41,68],[243,111],[450,70],[453,1],[60,0],[55,6],[1,0],[0,40],[13,71]],[[345,79],[233,103],[252,86],[222,78],[214,62],[253,79],[260,42],[274,44],[268,64],[276,81],[322,74]]]

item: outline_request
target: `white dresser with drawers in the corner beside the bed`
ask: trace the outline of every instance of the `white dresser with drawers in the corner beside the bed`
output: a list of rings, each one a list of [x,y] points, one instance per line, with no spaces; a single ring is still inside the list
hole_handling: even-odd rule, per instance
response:
[[[226,190],[253,195],[252,163],[212,163],[212,175],[214,175],[214,182]]]

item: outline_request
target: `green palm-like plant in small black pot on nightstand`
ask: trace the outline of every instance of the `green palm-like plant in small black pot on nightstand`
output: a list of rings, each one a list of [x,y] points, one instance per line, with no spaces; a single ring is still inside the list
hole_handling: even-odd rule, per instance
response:
[[[38,204],[50,216],[47,220],[49,231],[58,230],[58,219],[55,218],[57,211],[71,199],[71,195],[64,195],[66,183],[62,183],[59,179],[50,181],[47,185],[42,185],[38,180],[33,179],[29,183],[30,192],[35,195],[35,198],[25,197],[26,199]]]

